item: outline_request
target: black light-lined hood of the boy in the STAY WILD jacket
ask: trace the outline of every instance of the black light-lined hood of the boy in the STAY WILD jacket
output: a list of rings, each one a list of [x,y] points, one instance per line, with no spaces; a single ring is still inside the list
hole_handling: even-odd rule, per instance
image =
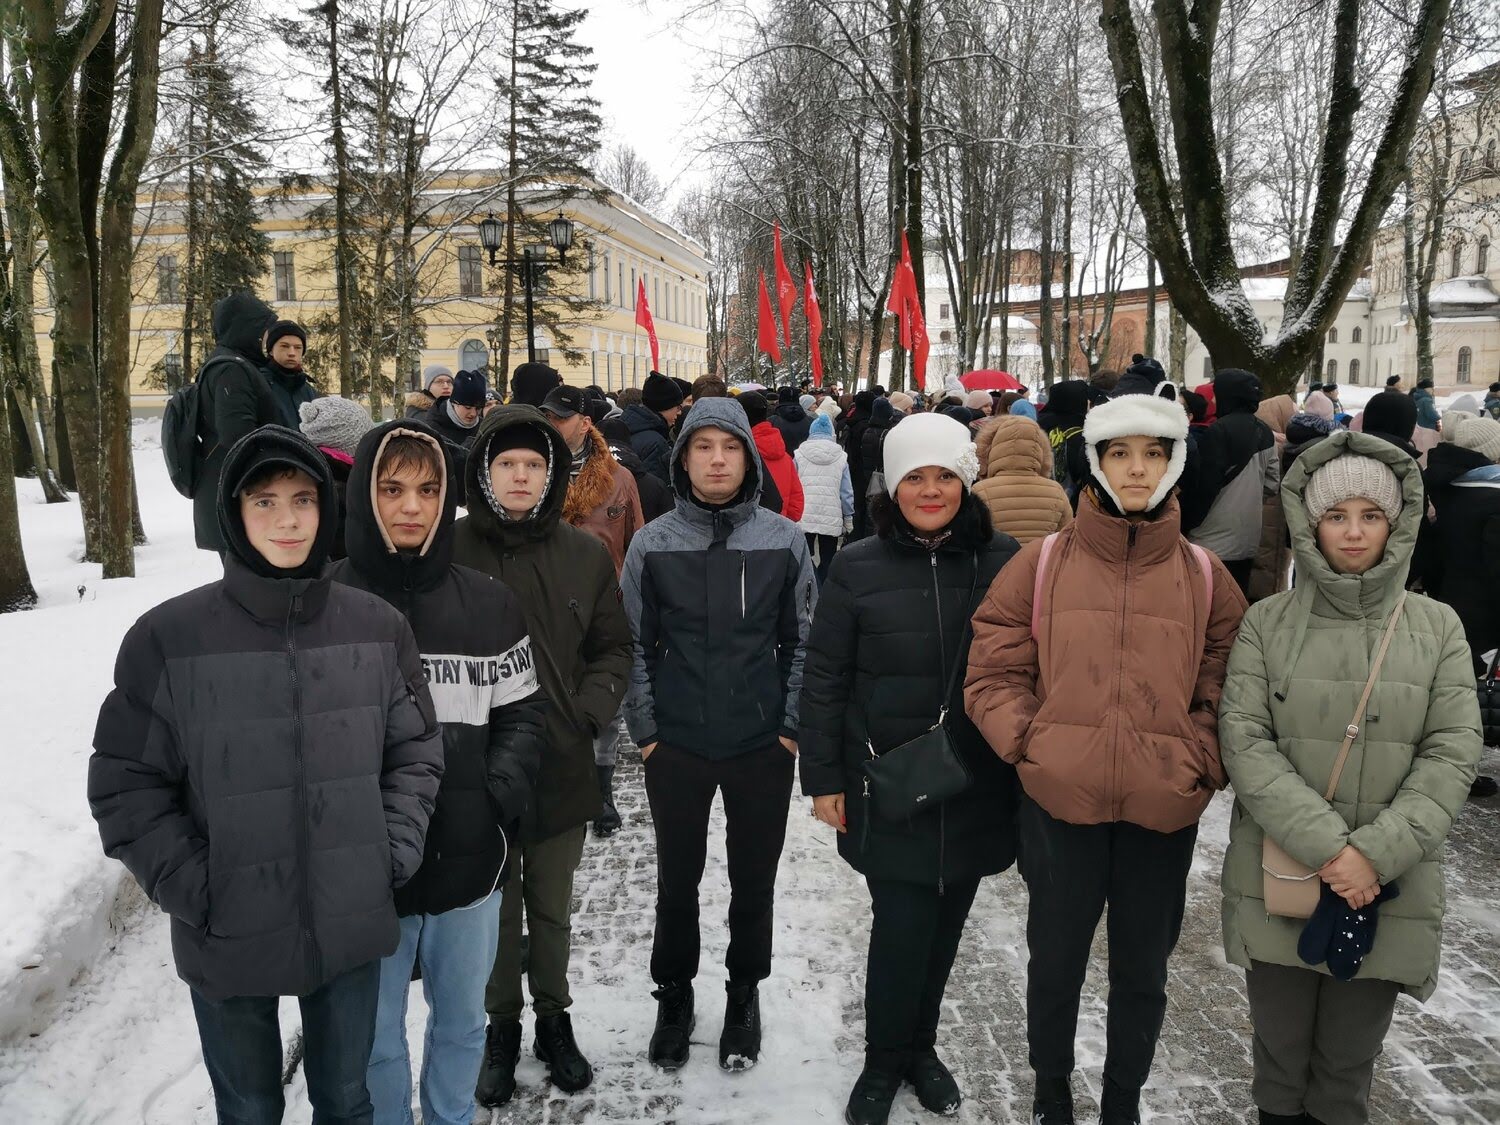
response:
[[[428,542],[417,550],[396,549],[386,526],[380,522],[375,507],[380,462],[386,456],[386,447],[390,441],[399,436],[417,438],[432,446],[441,466],[442,490],[438,522],[428,534]],[[447,447],[430,428],[416,420],[396,420],[376,426],[360,440],[344,495],[344,544],[350,561],[380,592],[436,586],[447,576],[453,562],[453,519],[458,512],[458,494]]]

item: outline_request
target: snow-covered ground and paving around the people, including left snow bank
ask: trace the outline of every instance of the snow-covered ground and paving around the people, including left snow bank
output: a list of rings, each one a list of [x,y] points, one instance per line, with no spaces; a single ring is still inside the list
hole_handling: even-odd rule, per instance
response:
[[[0,776],[9,782],[0,789],[6,906],[0,1020],[9,1024],[0,1034],[0,1122],[6,1124],[208,1125],[214,1119],[165,920],[100,855],[84,798],[94,716],[120,636],[148,606],[218,574],[213,556],[192,548],[190,507],[171,490],[159,450],[148,434],[138,438],[152,544],[138,555],[135,580],[104,584],[98,567],[76,562],[76,506],[44,506],[39,492],[21,482],[28,561],[44,608],[0,616],[0,646],[12,654],[0,678],[8,718]],[[1497,766],[1491,754],[1490,771]],[[711,849],[702,891],[699,1029],[692,1062],[669,1076],[645,1060],[654,1018],[648,960],[656,858],[636,753],[621,764],[620,804],[626,831],[609,842],[590,840],[576,882],[573,1020],[597,1080],[572,1098],[552,1090],[530,1054],[528,1022],[520,1094],[492,1122],[840,1120],[862,1048],[868,897],[838,860],[830,831],[807,816],[806,801],[794,801],[777,888],[776,968],[762,990],[765,1053],[762,1065],[742,1076],[724,1076],[717,1066],[729,891],[722,844]],[[1250,1119],[1244,981],[1220,948],[1218,867],[1227,812],[1227,798],[1218,798],[1200,834],[1167,1026],[1146,1092],[1146,1119],[1155,1125]],[[714,824],[722,838],[717,813]],[[1401,1002],[1377,1072],[1376,1122],[1500,1122],[1497,840],[1500,802],[1470,804],[1449,844],[1443,982],[1426,1006]],[[948,990],[940,1048],[968,1094],[963,1122],[1026,1119],[1024,914],[1024,886],[1014,872],[987,880]],[[1098,1094],[1104,1054],[1107,982],[1101,950],[1095,952],[1078,1034],[1080,1120]],[[38,1004],[46,992],[51,1000]],[[290,1041],[296,1004],[284,1002],[282,1012]],[[424,1016],[414,986],[410,1042],[418,1065]],[[34,1034],[12,1035],[16,1029]],[[297,1077],[288,1106],[291,1125],[310,1122]],[[892,1120],[926,1119],[903,1092]],[[477,1120],[483,1124],[486,1113]]]

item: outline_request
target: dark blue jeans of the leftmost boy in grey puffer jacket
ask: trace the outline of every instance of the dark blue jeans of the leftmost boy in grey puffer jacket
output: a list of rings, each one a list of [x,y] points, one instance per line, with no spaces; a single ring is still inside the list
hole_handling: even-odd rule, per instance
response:
[[[314,1125],[372,1125],[364,1068],[375,1038],[380,962],[339,974],[300,998],[303,1072]],[[213,1082],[219,1125],[280,1125],[280,1022],[276,996],[206,1000],[192,993],[202,1062]]]

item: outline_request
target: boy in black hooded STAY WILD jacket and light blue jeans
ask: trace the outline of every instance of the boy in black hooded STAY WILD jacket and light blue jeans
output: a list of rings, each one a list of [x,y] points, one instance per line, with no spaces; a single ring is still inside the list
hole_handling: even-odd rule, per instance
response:
[[[411,624],[444,759],[426,855],[396,892],[400,945],[381,962],[370,1101],[378,1122],[410,1116],[406,993],[420,964],[428,999],[422,1119],[466,1125],[484,1050],[477,982],[495,963],[496,888],[531,801],[548,704],[516,596],[452,561],[458,486],[438,435],[410,420],[370,430],[346,495],[350,556],[330,574],[388,602]]]

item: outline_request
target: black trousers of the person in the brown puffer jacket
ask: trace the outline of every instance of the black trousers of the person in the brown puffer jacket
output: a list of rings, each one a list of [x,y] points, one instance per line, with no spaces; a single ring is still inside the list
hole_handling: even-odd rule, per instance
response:
[[[1020,810],[1026,915],[1026,1040],[1038,1078],[1072,1072],[1089,946],[1108,904],[1110,996],[1104,1095],[1132,1112],[1167,1011],[1167,958],[1182,932],[1197,825],[1154,832],[1116,822],[1072,825],[1035,801]]]

